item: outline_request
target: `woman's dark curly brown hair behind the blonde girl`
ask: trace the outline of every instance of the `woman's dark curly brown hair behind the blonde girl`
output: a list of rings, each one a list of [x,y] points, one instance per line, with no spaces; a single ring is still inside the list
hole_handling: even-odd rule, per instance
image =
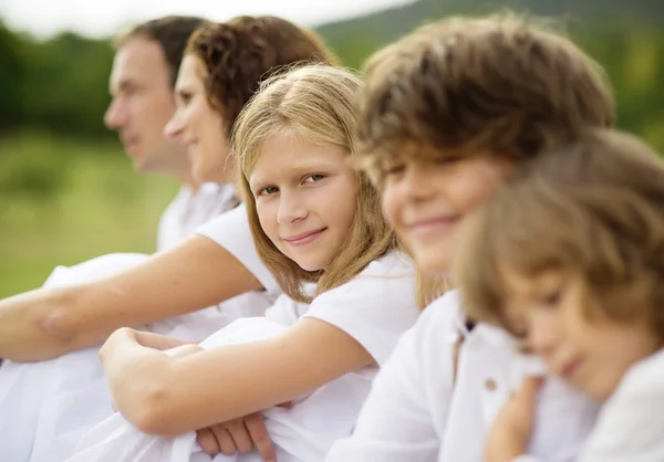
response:
[[[308,62],[338,64],[313,31],[270,15],[205,23],[185,53],[203,63],[208,101],[221,114],[228,136],[242,107],[274,72]]]

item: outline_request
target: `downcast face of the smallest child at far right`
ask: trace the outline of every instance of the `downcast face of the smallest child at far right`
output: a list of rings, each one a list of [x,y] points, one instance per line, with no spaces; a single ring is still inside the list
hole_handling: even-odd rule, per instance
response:
[[[511,330],[550,374],[593,398],[609,398],[625,372],[660,347],[645,322],[620,323],[596,309],[578,275],[548,270],[527,276],[509,266],[502,275]]]

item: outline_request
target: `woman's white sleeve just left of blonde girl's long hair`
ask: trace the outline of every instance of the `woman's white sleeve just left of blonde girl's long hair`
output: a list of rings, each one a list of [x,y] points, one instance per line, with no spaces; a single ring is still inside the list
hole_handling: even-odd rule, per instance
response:
[[[249,230],[247,209],[240,204],[221,213],[196,230],[196,233],[211,239],[238,259],[253,274],[268,292],[280,292],[277,281],[262,263]]]

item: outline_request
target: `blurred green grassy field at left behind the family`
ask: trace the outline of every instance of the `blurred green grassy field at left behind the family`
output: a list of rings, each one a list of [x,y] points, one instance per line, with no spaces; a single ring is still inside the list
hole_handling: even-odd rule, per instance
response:
[[[136,175],[114,143],[0,141],[0,298],[40,286],[58,264],[153,252],[176,189]]]

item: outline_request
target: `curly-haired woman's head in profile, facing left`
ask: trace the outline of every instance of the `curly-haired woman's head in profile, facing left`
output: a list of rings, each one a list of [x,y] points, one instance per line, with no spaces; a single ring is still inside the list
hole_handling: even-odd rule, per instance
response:
[[[261,81],[301,62],[335,60],[315,33],[280,18],[238,17],[194,32],[166,134],[186,145],[197,180],[228,182],[228,139],[238,114]]]

